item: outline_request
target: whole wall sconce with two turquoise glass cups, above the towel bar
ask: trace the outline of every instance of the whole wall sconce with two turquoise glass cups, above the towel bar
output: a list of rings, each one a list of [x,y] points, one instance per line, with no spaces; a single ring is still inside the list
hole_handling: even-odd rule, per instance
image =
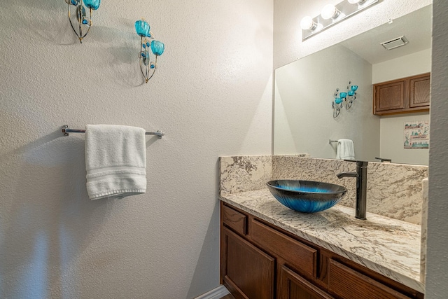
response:
[[[157,57],[165,51],[165,44],[161,41],[155,41],[153,34],[150,32],[149,24],[144,19],[135,22],[135,30],[141,37],[139,52],[140,70],[145,78],[145,82],[148,83],[149,79],[153,78],[155,74]],[[154,61],[151,61],[150,48],[151,53],[155,55]]]

